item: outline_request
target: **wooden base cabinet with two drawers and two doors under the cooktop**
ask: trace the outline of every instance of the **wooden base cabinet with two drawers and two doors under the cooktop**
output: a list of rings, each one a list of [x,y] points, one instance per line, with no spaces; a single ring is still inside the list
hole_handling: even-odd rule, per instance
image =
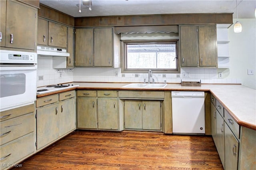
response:
[[[37,150],[76,129],[75,91],[39,98],[37,107]]]

